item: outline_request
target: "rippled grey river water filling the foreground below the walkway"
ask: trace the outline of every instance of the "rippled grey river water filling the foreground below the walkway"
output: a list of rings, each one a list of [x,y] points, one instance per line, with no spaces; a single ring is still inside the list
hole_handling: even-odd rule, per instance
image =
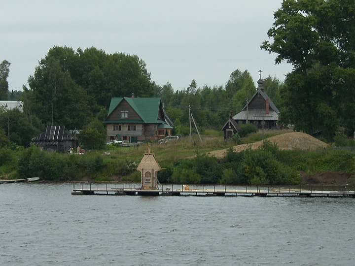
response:
[[[355,265],[355,199],[0,185],[0,265]]]

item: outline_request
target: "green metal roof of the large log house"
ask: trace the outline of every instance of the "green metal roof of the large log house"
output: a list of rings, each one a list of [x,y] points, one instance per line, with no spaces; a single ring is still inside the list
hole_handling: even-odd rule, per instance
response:
[[[137,114],[142,118],[145,124],[157,123],[158,113],[160,107],[160,98],[112,98],[108,109],[107,117],[113,112],[117,105],[122,101],[126,100],[129,105],[137,112]],[[124,120],[127,123],[127,120]],[[119,120],[115,121],[105,121],[120,123]],[[130,121],[133,122],[133,121]],[[137,121],[138,122],[138,121]],[[142,121],[141,121],[142,122]],[[158,122],[159,123],[159,122]]]

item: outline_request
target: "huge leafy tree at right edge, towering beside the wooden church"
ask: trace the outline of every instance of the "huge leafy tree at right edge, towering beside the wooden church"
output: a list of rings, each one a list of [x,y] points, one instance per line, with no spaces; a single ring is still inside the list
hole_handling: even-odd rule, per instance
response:
[[[353,0],[284,0],[262,48],[293,71],[283,88],[282,114],[295,128],[331,139],[355,130],[355,8]]]

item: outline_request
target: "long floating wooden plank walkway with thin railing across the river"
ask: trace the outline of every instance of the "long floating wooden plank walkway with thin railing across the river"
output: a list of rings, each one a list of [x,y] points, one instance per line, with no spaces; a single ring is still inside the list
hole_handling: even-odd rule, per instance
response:
[[[119,184],[121,185],[121,184]],[[177,189],[178,187],[178,189]],[[235,189],[231,189],[230,186],[225,186],[224,189],[221,189],[221,186],[213,188],[205,189],[203,188],[192,188],[184,189],[183,186],[170,185],[165,188],[162,187],[160,190],[140,190],[139,188],[135,188],[132,184],[127,188],[117,187],[117,184],[73,184],[72,195],[130,195],[130,196],[222,196],[222,197],[351,197],[355,198],[355,190],[347,190],[345,187],[336,187],[329,188],[326,190],[313,189],[311,188],[303,188],[299,187],[279,187],[279,188],[262,188],[259,189],[257,187],[246,187],[245,189],[241,189],[240,187],[235,187]]]

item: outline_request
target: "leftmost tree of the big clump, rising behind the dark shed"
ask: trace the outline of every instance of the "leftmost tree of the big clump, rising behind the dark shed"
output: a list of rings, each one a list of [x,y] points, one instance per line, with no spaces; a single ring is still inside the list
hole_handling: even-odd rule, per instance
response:
[[[46,125],[82,128],[92,118],[86,92],[71,78],[68,70],[47,56],[29,78],[32,111]]]

